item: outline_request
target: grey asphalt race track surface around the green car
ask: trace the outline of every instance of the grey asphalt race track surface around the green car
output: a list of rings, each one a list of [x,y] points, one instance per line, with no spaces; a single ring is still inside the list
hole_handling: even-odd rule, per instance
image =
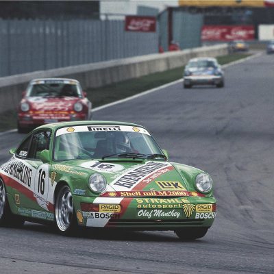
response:
[[[0,273],[274,273],[274,55],[225,69],[225,88],[182,83],[95,112],[145,125],[171,161],[214,179],[218,213],[200,240],[173,232],[87,230],[73,238],[26,223],[0,228]],[[0,163],[23,134],[0,136]]]

